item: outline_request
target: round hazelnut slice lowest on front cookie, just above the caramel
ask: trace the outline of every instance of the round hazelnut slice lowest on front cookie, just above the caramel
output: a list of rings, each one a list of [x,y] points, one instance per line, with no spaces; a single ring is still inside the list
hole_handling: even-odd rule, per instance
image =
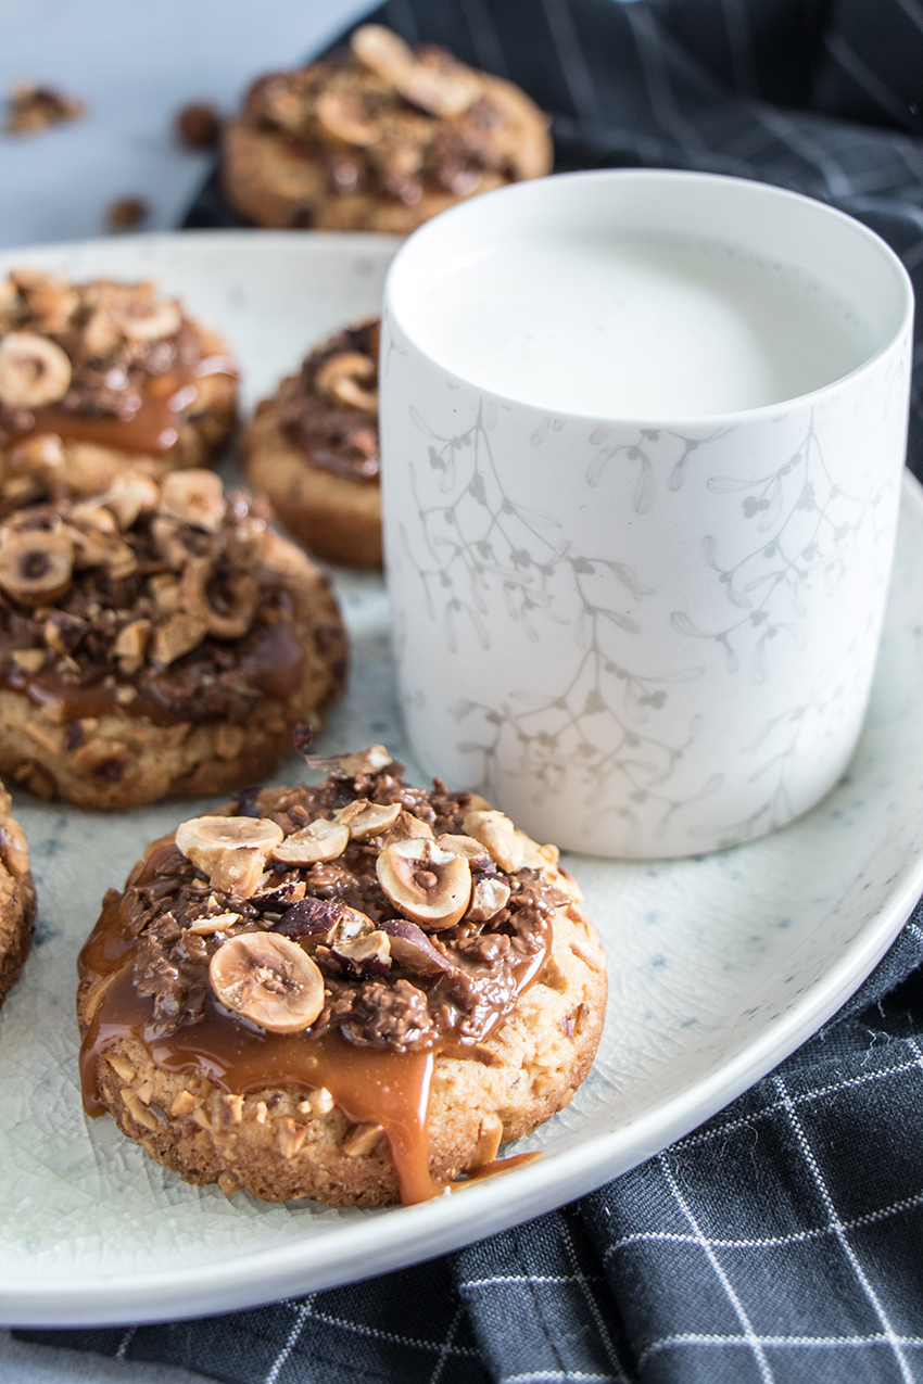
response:
[[[274,1034],[293,1034],[324,1008],[324,977],[307,952],[275,933],[242,933],[209,963],[212,990],[226,1009]]]

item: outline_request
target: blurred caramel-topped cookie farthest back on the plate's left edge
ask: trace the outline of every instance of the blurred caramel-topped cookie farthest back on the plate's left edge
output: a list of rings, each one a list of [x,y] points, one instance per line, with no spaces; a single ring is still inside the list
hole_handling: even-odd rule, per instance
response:
[[[154,284],[0,281],[0,513],[51,491],[94,495],[130,465],[206,465],[235,417],[221,338]]]

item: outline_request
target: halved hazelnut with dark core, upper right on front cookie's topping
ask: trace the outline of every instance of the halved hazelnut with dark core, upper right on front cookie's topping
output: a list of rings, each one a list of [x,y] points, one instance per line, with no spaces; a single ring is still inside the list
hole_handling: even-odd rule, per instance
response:
[[[381,853],[375,868],[394,908],[423,927],[454,927],[468,908],[472,893],[468,861],[440,851],[435,841],[423,837],[394,841]]]

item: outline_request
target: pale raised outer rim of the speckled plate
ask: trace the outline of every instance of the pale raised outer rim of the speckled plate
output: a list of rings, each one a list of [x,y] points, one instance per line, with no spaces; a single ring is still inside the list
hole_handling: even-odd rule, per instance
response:
[[[217,241],[227,245],[235,241],[256,248],[257,244],[278,241],[306,251],[328,251],[343,249],[346,242],[356,249],[393,255],[401,239],[372,233],[298,233],[298,239],[293,235],[291,231],[192,230],[149,233],[123,244],[163,244],[169,248],[170,242]],[[4,249],[0,251],[0,266],[17,257],[54,259],[55,255],[97,246],[111,251],[112,242],[100,238]],[[923,486],[906,471],[901,501],[923,516]],[[797,822],[786,829],[793,828],[797,830]],[[746,846],[736,848],[746,850]],[[217,1264],[138,1273],[120,1269],[90,1277],[80,1275],[79,1282],[75,1275],[66,1286],[55,1283],[48,1290],[43,1290],[40,1283],[24,1287],[21,1280],[0,1271],[0,1324],[122,1326],[239,1311],[422,1262],[470,1243],[472,1222],[477,1226],[476,1239],[482,1239],[585,1196],[691,1133],[790,1056],[866,978],[911,916],[922,893],[923,853],[895,876],[880,907],[836,960],[815,974],[801,994],[793,996],[728,1060],[639,1117],[518,1169],[512,1174],[516,1186],[512,1199],[508,1178],[494,1178],[465,1189],[461,1200],[453,1194],[417,1207],[401,1207],[332,1228],[320,1237],[242,1251]],[[311,1261],[318,1258],[321,1244],[322,1262],[317,1265]]]

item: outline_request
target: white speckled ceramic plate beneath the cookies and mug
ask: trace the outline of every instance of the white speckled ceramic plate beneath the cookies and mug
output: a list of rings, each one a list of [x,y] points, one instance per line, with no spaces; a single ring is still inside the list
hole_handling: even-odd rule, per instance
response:
[[[313,339],[375,310],[393,251],[361,235],[208,233],[4,255],[0,270],[156,277],[227,332],[252,401]],[[382,583],[336,580],[353,678],[318,747],[386,740],[400,754]],[[365,1277],[558,1205],[692,1129],[837,1009],[923,891],[922,706],[923,491],[908,477],[872,709],[847,776],[808,817],[733,851],[653,865],[572,857],[612,978],[591,1077],[526,1142],[545,1151],[538,1163],[378,1212],[228,1201],[149,1163],[111,1120],[84,1121],[80,943],[102,891],[195,804],[109,818],[19,800],[42,916],[0,1014],[0,1322],[192,1316]],[[298,774],[295,758],[280,781]]]

